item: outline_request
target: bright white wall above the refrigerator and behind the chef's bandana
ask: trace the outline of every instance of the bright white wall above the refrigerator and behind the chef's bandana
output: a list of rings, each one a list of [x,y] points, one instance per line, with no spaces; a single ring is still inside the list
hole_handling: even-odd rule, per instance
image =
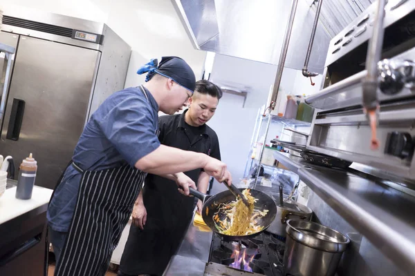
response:
[[[132,48],[125,86],[138,86],[136,74],[149,59],[174,55],[189,63],[196,79],[203,72],[205,52],[195,50],[170,0],[1,0],[47,12],[107,23]]]

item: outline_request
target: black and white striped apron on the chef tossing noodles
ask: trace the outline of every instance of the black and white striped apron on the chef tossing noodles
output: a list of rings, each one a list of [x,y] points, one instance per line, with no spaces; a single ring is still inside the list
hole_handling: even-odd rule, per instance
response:
[[[82,179],[55,276],[104,275],[147,172],[129,164],[95,171],[71,165]]]

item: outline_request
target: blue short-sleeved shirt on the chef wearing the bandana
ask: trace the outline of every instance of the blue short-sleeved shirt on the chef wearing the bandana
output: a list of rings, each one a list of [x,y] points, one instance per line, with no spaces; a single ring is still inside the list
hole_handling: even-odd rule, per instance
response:
[[[145,89],[145,88],[144,88]],[[160,146],[158,104],[149,90],[127,88],[108,97],[86,124],[72,160],[82,170],[104,170],[136,162]],[[81,174],[69,166],[48,208],[55,231],[67,232],[75,211]]]

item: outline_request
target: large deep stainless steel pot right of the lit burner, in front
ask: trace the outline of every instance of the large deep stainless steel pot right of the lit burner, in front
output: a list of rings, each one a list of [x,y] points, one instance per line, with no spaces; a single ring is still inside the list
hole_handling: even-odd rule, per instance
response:
[[[286,227],[284,275],[335,275],[350,239],[311,221],[290,219]]]

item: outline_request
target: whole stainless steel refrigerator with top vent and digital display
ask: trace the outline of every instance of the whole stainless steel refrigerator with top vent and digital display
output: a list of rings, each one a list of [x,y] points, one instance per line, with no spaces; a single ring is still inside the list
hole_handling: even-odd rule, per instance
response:
[[[0,155],[13,157],[17,179],[32,152],[35,184],[54,188],[92,112],[124,88],[131,48],[104,23],[7,7],[3,14],[0,43],[15,53],[0,54]]]

